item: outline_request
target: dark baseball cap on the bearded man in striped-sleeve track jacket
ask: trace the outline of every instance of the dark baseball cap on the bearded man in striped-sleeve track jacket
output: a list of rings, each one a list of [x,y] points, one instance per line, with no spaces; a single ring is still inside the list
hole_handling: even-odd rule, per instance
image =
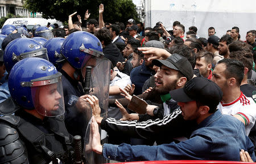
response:
[[[179,54],[172,54],[171,57],[168,57],[165,60],[154,59],[152,63],[158,67],[164,65],[168,68],[180,71],[181,74],[187,77],[188,81],[191,80],[194,75],[191,63],[188,62],[187,58]]]

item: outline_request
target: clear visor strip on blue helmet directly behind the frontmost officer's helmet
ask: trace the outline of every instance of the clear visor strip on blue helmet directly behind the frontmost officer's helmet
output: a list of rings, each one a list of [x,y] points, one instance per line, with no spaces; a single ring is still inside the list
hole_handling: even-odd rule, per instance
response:
[[[27,53],[22,53],[22,54],[20,54],[18,56],[13,53],[12,59],[13,59],[13,61],[20,61],[20,60],[22,60],[24,58],[36,57],[36,58],[46,59],[47,61],[49,61],[48,55],[47,55],[47,49],[46,48],[41,48],[41,46],[39,46],[38,48],[40,48],[40,49],[34,50],[34,51],[29,51]]]

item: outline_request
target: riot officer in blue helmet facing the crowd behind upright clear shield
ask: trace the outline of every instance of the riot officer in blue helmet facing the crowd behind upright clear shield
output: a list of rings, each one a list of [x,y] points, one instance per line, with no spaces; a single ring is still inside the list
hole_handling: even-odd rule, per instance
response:
[[[81,97],[85,94],[85,69],[86,66],[94,67],[97,58],[102,58],[102,45],[97,37],[88,32],[74,32],[70,34],[61,46],[63,66],[60,70],[63,75],[63,93],[66,105],[65,123],[69,133],[84,136],[81,131],[77,115],[69,110],[67,103],[69,95]],[[81,82],[81,83],[79,83]],[[82,84],[82,85],[81,85]]]

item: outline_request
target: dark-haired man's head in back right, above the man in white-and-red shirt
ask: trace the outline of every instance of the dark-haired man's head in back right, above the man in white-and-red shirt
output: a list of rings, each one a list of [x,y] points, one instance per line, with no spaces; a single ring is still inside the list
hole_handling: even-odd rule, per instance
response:
[[[224,58],[228,58],[229,56],[229,48],[228,45],[233,42],[233,38],[229,34],[225,34],[220,39],[220,45],[218,46],[218,54],[224,56]]]

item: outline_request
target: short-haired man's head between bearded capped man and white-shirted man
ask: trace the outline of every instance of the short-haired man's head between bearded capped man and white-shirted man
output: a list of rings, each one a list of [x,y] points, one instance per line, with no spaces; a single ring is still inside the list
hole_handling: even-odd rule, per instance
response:
[[[207,79],[212,78],[213,53],[207,50],[201,50],[196,54],[195,69],[199,69],[202,76]]]

